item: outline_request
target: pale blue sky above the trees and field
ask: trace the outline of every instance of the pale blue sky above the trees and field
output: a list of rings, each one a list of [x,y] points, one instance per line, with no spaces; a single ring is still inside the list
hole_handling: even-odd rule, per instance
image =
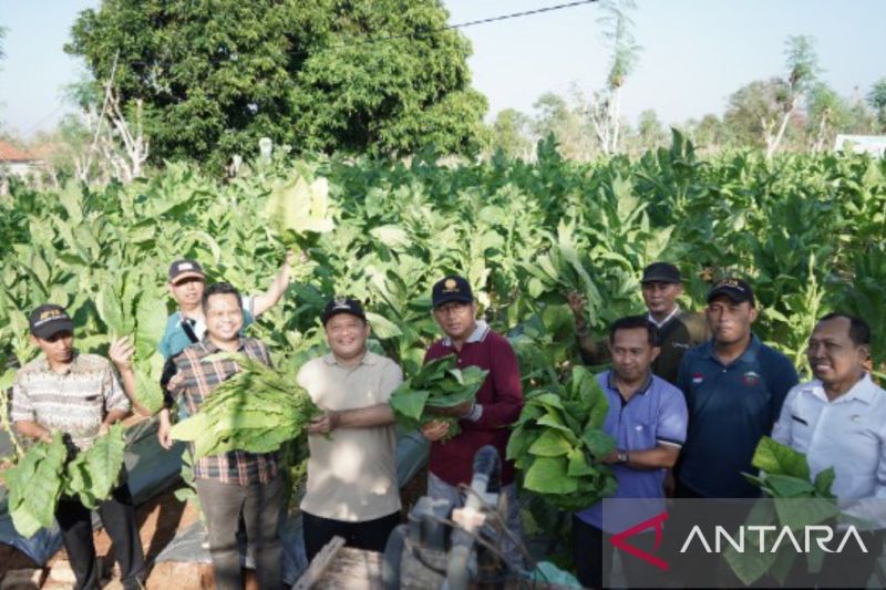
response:
[[[569,0],[443,0],[450,23],[534,10]],[[0,123],[25,137],[51,130],[72,107],[62,89],[83,71],[62,46],[80,11],[99,0],[0,0],[6,58],[0,61]],[[609,61],[585,4],[462,29],[474,53],[473,85],[503,108],[532,113],[545,92],[588,93]],[[844,96],[866,94],[886,77],[884,0],[637,0],[633,34],[642,46],[622,90],[631,121],[655,108],[666,123],[722,114],[742,85],[783,75],[789,35],[815,39],[821,77]]]

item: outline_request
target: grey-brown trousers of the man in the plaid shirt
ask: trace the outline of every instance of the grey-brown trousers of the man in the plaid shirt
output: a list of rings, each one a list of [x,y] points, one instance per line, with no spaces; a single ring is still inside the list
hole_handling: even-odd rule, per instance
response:
[[[243,514],[246,537],[253,547],[256,577],[261,590],[282,584],[282,548],[278,526],[284,477],[267,484],[240,486],[215,479],[196,479],[197,496],[206,515],[209,556],[213,559],[216,588],[241,590],[240,551],[237,529]]]

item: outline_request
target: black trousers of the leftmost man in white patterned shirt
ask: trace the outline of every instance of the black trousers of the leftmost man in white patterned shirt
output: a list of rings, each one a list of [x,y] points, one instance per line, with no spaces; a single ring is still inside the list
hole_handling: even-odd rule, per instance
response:
[[[102,525],[114,542],[114,557],[120,563],[123,588],[140,588],[145,579],[145,558],[135,522],[135,507],[130,486],[123,484],[99,505]],[[55,508],[55,519],[62,530],[62,542],[76,578],[75,589],[99,589],[100,571],[92,541],[92,516],[89,508],[75,498],[62,497]]]

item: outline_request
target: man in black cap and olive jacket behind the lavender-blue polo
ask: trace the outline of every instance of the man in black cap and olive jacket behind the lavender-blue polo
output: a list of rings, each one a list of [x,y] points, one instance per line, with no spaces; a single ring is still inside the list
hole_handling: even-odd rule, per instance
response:
[[[661,353],[652,361],[652,373],[676,384],[680,360],[687,350],[710,338],[708,323],[700,313],[680,309],[677,299],[683,292],[680,270],[670,262],[652,262],[643,269],[641,279],[643,302],[649,323],[658,331]],[[609,341],[591,337],[585,319],[585,302],[576,292],[567,294],[575,314],[579,352],[586,364],[598,365],[610,361]]]

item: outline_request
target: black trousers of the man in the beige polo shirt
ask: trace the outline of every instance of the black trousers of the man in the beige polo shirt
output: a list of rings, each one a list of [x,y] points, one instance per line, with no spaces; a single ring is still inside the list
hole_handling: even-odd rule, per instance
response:
[[[400,524],[400,513],[362,522],[333,520],[301,513],[301,522],[305,530],[305,552],[310,561],[336,535],[343,538],[348,547],[383,552],[388,537]]]

